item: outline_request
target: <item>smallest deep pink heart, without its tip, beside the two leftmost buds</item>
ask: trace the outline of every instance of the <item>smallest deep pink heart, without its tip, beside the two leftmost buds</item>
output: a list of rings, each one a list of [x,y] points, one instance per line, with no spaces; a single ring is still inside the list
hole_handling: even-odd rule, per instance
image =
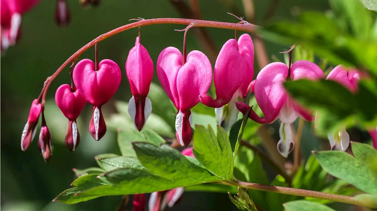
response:
[[[78,118],[86,101],[78,90],[72,92],[68,84],[62,84],[55,93],[55,102],[61,112],[71,121]]]

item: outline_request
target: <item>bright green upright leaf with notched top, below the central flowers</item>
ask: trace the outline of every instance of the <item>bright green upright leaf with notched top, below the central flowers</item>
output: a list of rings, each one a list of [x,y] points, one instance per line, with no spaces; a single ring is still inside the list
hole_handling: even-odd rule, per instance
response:
[[[233,179],[233,153],[222,127],[217,127],[216,137],[210,125],[208,129],[196,125],[193,143],[193,153],[202,166],[221,178]]]

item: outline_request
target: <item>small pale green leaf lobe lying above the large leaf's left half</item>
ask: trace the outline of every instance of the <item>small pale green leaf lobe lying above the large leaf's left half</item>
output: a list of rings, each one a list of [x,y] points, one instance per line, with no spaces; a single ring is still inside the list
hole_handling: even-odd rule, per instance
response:
[[[144,167],[139,162],[136,157],[126,157],[126,156],[116,156],[116,157],[105,157],[98,158],[101,167],[107,172],[115,169],[132,167],[137,169],[144,169]]]

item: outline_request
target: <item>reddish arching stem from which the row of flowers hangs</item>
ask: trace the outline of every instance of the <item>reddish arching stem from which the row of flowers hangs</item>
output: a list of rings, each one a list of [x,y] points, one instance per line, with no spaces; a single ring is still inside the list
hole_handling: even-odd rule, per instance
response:
[[[148,26],[154,24],[182,24],[182,25],[189,25],[193,24],[195,27],[212,27],[212,28],[220,28],[220,29],[231,29],[231,30],[241,30],[244,32],[255,32],[259,26],[254,24],[246,23],[246,24],[237,24],[237,23],[227,23],[227,22],[219,22],[219,21],[206,21],[206,20],[195,20],[195,19],[184,19],[184,18],[154,18],[154,19],[147,19],[141,20],[135,23],[130,23],[116,29],[111,30],[110,32],[106,32],[97,38],[90,41],[88,44],[81,47],[76,53],[70,56],[57,71],[54,72],[50,77],[44,81],[43,85],[43,96],[42,96],[42,106],[46,103],[46,94],[51,82],[63,71],[64,67],[66,67],[70,62],[76,60],[84,51],[88,48],[92,47],[96,43],[103,41],[110,36],[113,36],[117,33],[123,32],[128,29],[133,29],[139,26]]]

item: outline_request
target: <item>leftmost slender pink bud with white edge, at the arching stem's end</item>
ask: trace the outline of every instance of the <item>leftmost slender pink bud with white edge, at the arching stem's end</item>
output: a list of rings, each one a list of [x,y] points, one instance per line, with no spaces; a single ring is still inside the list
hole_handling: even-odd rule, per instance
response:
[[[21,135],[21,149],[26,151],[29,148],[32,140],[34,139],[35,133],[37,132],[38,119],[42,111],[42,105],[37,99],[34,99],[28,117],[28,122],[26,122],[25,127]]]

